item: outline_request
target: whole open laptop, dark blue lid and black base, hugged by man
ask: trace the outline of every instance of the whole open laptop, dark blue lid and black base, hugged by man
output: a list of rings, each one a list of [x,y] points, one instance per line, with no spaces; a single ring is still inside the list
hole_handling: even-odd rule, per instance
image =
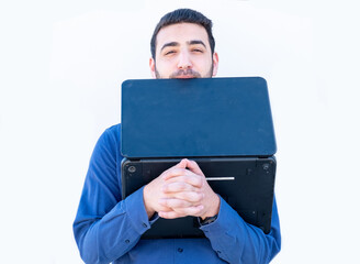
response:
[[[270,232],[277,151],[260,77],[122,84],[122,197],[188,157],[239,216]],[[158,219],[143,239],[202,238],[198,218]]]

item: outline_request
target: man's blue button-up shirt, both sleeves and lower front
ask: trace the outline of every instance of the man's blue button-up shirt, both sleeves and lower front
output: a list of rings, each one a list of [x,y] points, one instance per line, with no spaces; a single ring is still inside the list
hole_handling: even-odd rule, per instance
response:
[[[142,240],[151,228],[143,188],[121,199],[120,124],[108,129],[91,156],[74,234],[88,263],[269,263],[280,251],[281,237],[275,201],[271,231],[246,223],[221,198],[217,219],[202,226],[203,239]]]

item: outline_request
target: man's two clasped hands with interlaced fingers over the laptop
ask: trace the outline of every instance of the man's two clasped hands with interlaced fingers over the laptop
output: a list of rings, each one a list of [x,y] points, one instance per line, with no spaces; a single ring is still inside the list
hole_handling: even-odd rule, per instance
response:
[[[218,213],[220,198],[199,165],[184,158],[144,187],[144,205],[149,218],[158,212],[166,219],[205,219]]]

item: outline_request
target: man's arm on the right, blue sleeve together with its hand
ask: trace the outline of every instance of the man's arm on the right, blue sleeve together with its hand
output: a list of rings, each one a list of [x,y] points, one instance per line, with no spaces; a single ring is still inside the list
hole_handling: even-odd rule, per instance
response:
[[[204,219],[217,215],[214,222],[202,226],[201,229],[221,258],[229,263],[269,263],[280,251],[281,243],[275,201],[272,209],[271,231],[265,234],[259,228],[246,223],[225,200],[218,198],[195,162],[184,161],[184,167],[188,169],[181,176],[176,173],[164,175],[168,184],[162,190],[168,197],[162,202],[173,211],[160,211],[159,216],[164,218],[198,216]],[[187,185],[179,185],[181,182]],[[195,194],[202,194],[202,198],[191,200],[190,198]]]

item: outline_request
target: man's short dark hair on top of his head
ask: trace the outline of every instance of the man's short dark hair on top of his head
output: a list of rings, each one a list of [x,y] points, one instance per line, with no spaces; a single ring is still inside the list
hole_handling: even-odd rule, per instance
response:
[[[191,10],[191,9],[177,9],[172,12],[167,13],[164,15],[159,23],[156,25],[155,31],[151,36],[151,42],[150,42],[150,48],[151,48],[151,56],[155,59],[155,54],[156,54],[156,36],[159,33],[159,31],[171,24],[178,24],[178,23],[194,23],[204,26],[204,29],[207,32],[209,36],[209,43],[211,47],[212,54],[214,53],[215,50],[215,40],[213,36],[212,28],[213,28],[213,22],[207,19],[205,15],[202,13]]]

